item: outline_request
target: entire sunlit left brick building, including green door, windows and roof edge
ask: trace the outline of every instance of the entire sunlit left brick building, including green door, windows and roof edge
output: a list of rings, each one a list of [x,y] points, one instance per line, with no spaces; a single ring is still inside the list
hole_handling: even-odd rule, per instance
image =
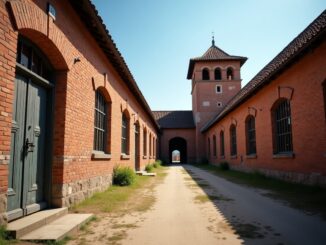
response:
[[[0,223],[156,158],[158,125],[88,0],[0,2]]]

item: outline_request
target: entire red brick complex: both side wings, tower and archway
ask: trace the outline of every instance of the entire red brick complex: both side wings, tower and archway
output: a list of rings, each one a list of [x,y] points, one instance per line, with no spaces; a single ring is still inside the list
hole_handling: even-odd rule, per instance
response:
[[[325,26],[324,12],[242,89],[246,58],[213,42],[190,60],[193,110],[152,112],[89,0],[0,1],[0,224],[174,150],[325,184]]]

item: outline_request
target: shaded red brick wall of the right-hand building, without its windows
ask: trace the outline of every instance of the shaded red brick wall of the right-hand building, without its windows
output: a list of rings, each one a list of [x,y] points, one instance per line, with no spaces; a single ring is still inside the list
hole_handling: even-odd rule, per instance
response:
[[[210,139],[213,164],[227,161],[234,168],[261,170],[279,178],[325,185],[326,174],[326,42],[288,67],[279,77],[260,89],[205,134],[206,148]],[[271,110],[279,98],[286,98],[291,106],[293,156],[273,154]],[[255,117],[256,156],[246,154],[245,120]],[[230,126],[236,126],[237,155],[230,154]],[[224,131],[225,157],[220,154],[220,132]],[[213,156],[213,135],[217,137],[217,156]]]

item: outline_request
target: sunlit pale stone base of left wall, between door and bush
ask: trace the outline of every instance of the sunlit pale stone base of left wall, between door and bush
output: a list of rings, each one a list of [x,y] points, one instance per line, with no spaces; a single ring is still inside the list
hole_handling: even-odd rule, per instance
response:
[[[91,197],[96,192],[106,190],[111,185],[112,175],[55,184],[52,189],[52,205],[55,207],[70,207]]]

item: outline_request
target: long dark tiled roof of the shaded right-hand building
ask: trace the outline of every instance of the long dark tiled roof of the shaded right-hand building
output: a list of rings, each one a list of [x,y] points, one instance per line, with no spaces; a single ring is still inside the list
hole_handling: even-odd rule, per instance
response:
[[[243,87],[212,120],[201,129],[207,131],[215,123],[224,118],[238,105],[248,100],[263,86],[272,82],[310,47],[318,42],[325,42],[326,10],[321,13],[303,32],[290,42],[271,62],[269,62],[245,87]],[[324,68],[325,69],[325,68]]]

